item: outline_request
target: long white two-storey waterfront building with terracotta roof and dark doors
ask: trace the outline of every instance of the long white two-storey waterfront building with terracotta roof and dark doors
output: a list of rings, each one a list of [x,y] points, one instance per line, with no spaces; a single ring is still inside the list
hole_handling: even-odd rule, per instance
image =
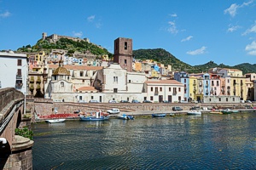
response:
[[[176,80],[152,80],[145,82],[147,99],[152,102],[178,102],[184,99],[184,84]]]

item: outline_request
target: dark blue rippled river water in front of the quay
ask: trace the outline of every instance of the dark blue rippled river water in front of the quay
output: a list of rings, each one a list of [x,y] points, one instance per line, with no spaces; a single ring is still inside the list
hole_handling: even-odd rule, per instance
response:
[[[255,169],[256,113],[33,124],[33,169]]]

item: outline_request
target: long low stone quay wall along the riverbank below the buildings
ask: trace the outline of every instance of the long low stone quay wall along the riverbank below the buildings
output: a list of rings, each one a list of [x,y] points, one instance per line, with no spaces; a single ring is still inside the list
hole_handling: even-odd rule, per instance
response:
[[[173,106],[179,106],[183,111],[188,111],[192,106],[200,107],[217,107],[217,108],[236,108],[244,109],[245,105],[252,104],[241,104],[241,103],[230,103],[230,104],[183,104],[183,103],[73,103],[73,102],[53,102],[50,99],[35,99],[32,103],[27,104],[29,110],[33,111],[38,116],[49,116],[55,113],[73,113],[74,111],[90,112],[90,111],[107,111],[112,108],[119,108],[122,112],[139,112],[139,111],[172,111]],[[32,119],[33,120],[33,119]]]

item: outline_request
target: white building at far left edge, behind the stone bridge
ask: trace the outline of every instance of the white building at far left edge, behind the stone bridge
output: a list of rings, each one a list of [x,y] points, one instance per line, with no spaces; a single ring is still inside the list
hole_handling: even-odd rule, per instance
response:
[[[26,54],[0,52],[0,88],[16,88],[27,92],[28,65]]]

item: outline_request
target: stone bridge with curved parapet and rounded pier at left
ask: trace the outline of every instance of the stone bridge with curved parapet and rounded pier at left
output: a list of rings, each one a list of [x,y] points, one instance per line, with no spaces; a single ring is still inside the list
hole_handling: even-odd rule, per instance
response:
[[[33,141],[15,135],[27,125],[25,95],[15,88],[0,89],[0,169],[32,169]]]

